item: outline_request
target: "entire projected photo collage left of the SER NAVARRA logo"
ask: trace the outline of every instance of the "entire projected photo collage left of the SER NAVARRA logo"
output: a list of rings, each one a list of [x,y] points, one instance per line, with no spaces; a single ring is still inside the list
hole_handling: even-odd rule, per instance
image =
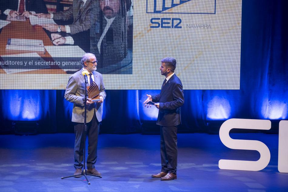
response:
[[[92,52],[99,72],[132,74],[131,0],[7,0],[0,19],[2,73],[70,74]]]

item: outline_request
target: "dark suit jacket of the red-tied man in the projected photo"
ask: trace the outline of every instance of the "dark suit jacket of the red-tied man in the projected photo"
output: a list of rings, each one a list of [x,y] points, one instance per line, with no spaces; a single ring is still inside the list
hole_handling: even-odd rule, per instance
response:
[[[7,0],[5,5],[6,9],[18,11],[18,0]],[[43,0],[25,0],[26,11],[35,11],[36,13],[48,13],[46,4]]]

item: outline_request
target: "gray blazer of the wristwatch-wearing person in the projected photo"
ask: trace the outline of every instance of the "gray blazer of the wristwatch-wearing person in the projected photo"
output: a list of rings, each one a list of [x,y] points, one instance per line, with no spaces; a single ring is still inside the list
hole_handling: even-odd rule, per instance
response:
[[[90,29],[92,22],[96,19],[94,16],[96,1],[87,0],[79,15],[80,4],[82,0],[74,0],[73,5],[65,11],[53,13],[53,19],[67,21],[73,18],[70,27],[70,33],[75,34]]]

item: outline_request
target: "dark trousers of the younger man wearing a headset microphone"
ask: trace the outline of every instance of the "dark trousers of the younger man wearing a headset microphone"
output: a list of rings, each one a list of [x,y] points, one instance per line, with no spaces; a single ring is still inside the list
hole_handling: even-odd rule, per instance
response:
[[[162,172],[176,174],[177,171],[177,126],[160,127],[160,154]]]

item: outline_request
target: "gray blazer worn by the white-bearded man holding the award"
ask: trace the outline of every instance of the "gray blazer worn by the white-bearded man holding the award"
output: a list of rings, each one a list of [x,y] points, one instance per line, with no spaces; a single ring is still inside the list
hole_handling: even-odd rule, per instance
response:
[[[99,87],[100,96],[105,99],[105,87],[103,83],[102,74],[99,72],[92,72],[94,75],[94,80],[96,85]],[[82,69],[78,72],[75,72],[72,76],[69,77],[68,84],[66,86],[64,98],[67,101],[73,103],[72,111],[72,122],[84,123],[84,97],[85,97],[85,79],[82,75]],[[89,123],[92,120],[94,111],[96,113],[97,120],[102,121],[102,111],[103,103],[87,103],[87,119],[86,122]]]

